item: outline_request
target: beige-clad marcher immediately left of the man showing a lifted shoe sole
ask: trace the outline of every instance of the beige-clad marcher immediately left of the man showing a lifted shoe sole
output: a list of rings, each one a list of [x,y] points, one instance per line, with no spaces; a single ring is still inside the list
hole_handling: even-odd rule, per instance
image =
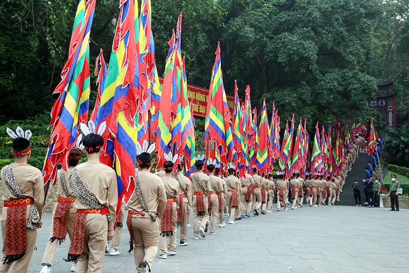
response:
[[[187,224],[188,224],[188,218],[192,210],[192,185],[188,177],[186,177],[183,172],[182,172],[182,167],[181,164],[177,164],[177,173],[174,175],[175,179],[179,183],[179,189],[181,191],[179,195],[179,200],[180,198],[182,199],[182,206],[181,206],[181,211],[180,211],[180,241],[179,245],[184,246],[189,244],[189,241],[187,239],[188,235],[188,229],[187,229]],[[179,201],[179,207],[180,207],[180,201]],[[178,212],[179,213],[179,212]]]

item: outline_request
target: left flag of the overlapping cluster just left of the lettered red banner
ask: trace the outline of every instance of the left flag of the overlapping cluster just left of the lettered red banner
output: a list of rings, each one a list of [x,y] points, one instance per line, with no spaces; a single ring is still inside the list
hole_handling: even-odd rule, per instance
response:
[[[162,97],[159,106],[159,117],[157,123],[157,141],[156,141],[156,170],[162,169],[166,162],[165,153],[169,153],[172,146],[172,117],[177,114],[172,109],[172,102],[177,100],[176,94],[176,81],[174,74],[174,65],[176,57],[176,45],[175,45],[175,32],[172,32],[172,38],[169,43],[169,52],[166,58],[165,65],[165,79],[162,86]],[[177,110],[177,109],[176,109]],[[159,145],[158,145],[159,144]]]

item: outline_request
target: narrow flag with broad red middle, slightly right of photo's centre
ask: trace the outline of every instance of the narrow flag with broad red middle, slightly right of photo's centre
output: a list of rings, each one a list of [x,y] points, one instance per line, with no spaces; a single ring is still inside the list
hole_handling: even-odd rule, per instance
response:
[[[258,147],[256,165],[260,173],[268,174],[270,168],[270,154],[268,152],[268,119],[267,109],[265,107],[265,99],[263,100],[263,109],[261,110],[260,129],[258,132]]]

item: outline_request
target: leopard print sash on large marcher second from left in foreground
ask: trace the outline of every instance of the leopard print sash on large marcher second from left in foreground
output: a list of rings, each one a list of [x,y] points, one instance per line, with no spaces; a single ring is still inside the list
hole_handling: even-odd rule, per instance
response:
[[[105,208],[105,206],[98,201],[97,197],[95,197],[95,195],[85,186],[78,174],[77,168],[74,168],[70,173],[70,176],[68,177],[68,184],[78,200],[80,200],[86,206],[93,209]],[[106,217],[108,218],[108,221],[112,221],[112,217],[109,215],[109,213],[106,214]]]

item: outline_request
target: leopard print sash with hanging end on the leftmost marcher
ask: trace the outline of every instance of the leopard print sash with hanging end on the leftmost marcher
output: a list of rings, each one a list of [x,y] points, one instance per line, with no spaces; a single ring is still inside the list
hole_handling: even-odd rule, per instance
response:
[[[3,169],[3,177],[4,177],[4,184],[6,184],[7,189],[9,189],[10,193],[17,198],[28,198],[26,195],[22,195],[20,188],[18,188],[16,177],[14,176],[13,172],[13,163],[7,165]],[[29,221],[27,223],[27,227],[32,230],[37,229],[37,224],[40,222],[40,214],[38,213],[37,207],[32,204],[30,209],[30,216]]]

